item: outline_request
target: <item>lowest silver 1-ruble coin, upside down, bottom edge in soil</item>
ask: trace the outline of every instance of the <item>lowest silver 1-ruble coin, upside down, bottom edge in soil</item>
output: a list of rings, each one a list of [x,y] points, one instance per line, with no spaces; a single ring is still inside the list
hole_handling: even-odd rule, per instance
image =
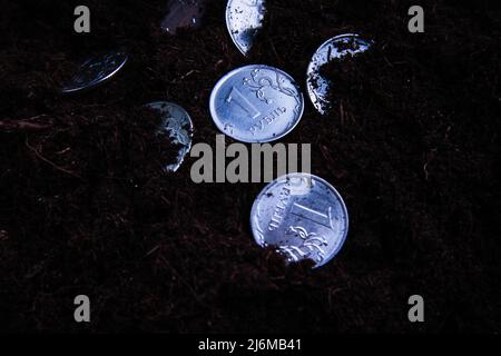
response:
[[[266,186],[250,212],[259,246],[273,246],[288,261],[328,263],[343,246],[348,216],[340,194],[327,181],[308,174],[291,174]]]

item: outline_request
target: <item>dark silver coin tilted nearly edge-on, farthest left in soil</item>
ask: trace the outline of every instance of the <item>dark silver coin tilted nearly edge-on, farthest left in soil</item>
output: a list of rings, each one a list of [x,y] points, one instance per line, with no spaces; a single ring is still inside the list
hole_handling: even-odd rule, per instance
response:
[[[127,59],[126,52],[115,51],[86,60],[71,80],[63,86],[62,92],[76,92],[105,82],[124,67]]]

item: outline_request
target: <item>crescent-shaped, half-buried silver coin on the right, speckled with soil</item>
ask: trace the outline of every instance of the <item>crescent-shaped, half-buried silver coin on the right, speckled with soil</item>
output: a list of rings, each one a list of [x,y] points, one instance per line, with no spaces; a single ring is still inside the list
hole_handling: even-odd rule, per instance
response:
[[[307,82],[310,99],[320,113],[324,115],[331,108],[328,100],[330,88],[333,83],[320,73],[322,66],[332,60],[341,60],[346,56],[355,56],[366,51],[371,47],[369,41],[358,34],[346,33],[333,37],[324,42],[313,55],[307,69]],[[334,83],[335,85],[335,83]]]

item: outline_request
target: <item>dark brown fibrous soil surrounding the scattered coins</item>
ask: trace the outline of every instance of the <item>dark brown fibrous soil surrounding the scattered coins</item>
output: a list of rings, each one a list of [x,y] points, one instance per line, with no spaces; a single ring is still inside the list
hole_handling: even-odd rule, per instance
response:
[[[421,4],[425,33],[407,31]],[[0,1],[0,329],[7,332],[501,332],[500,19],[494,1],[268,0],[248,58],[225,26],[161,32],[164,0]],[[258,248],[249,211],[264,185],[195,185],[193,159],[163,172],[146,102],[185,107],[215,145],[216,81],[245,63],[305,71],[326,39],[358,32],[371,53],[331,72],[334,110],[307,101],[283,142],[311,142],[313,172],[351,226],[325,267]],[[130,60],[82,95],[75,63],[124,47]],[[227,144],[232,142],[228,138]],[[73,298],[91,323],[73,320]],[[407,298],[425,299],[425,323]]]

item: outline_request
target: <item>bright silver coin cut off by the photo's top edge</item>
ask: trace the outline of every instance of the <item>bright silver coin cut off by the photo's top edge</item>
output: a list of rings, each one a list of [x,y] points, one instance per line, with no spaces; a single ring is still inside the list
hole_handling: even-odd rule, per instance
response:
[[[233,42],[244,56],[263,28],[265,12],[264,0],[229,0],[226,6],[226,27]]]

